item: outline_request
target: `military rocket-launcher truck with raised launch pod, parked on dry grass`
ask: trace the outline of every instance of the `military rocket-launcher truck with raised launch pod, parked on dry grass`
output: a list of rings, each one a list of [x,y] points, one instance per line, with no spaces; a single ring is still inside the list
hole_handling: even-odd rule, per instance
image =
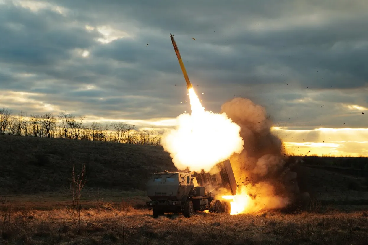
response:
[[[146,202],[153,217],[164,213],[183,213],[190,217],[195,211],[230,213],[229,201],[215,199],[216,190],[226,188],[236,194],[236,180],[229,160],[217,164],[215,173],[168,172],[155,173],[147,183]]]

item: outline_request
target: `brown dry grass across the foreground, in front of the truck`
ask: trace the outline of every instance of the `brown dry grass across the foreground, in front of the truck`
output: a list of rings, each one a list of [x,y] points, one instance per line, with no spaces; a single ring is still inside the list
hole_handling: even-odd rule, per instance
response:
[[[1,220],[0,244],[367,244],[368,215],[278,212],[257,215],[165,215],[123,203],[77,216],[70,209],[10,211]],[[1,214],[7,213],[5,210]],[[2,217],[2,216],[1,216]]]

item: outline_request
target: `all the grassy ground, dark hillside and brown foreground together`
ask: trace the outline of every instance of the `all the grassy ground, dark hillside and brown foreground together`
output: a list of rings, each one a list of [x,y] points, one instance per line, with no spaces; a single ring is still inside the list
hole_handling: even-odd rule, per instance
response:
[[[72,211],[71,171],[87,183]],[[145,209],[152,172],[176,170],[161,147],[0,135],[0,244],[367,244],[365,177],[297,166],[308,208],[191,218]]]

